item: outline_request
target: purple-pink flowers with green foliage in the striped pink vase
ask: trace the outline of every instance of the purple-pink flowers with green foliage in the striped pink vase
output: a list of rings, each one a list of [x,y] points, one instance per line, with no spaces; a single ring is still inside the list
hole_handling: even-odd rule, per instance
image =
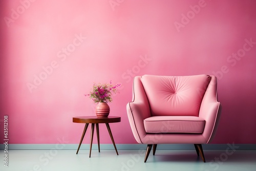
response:
[[[110,83],[94,83],[90,93],[84,96],[89,96],[95,103],[111,102],[112,93],[119,93],[116,88],[120,85],[116,84],[116,86],[113,86],[111,81]]]

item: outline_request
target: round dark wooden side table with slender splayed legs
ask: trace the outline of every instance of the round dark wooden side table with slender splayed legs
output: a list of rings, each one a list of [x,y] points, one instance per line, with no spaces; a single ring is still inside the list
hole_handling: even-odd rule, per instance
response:
[[[108,116],[106,118],[98,118],[97,116],[77,116],[77,117],[73,117],[73,122],[75,122],[75,123],[86,123],[86,125],[84,126],[84,129],[83,129],[82,137],[81,137],[79,146],[77,148],[76,154],[78,154],[79,148],[81,146],[83,137],[86,134],[87,128],[89,126],[89,123],[92,124],[89,157],[91,157],[91,152],[92,152],[93,133],[94,133],[94,125],[95,124],[96,124],[97,140],[98,140],[98,149],[99,149],[99,152],[100,152],[100,146],[99,146],[99,123],[105,123],[106,124],[106,128],[109,131],[112,143],[113,143],[113,145],[115,147],[116,154],[118,155],[118,152],[117,152],[117,149],[116,149],[116,144],[115,144],[113,135],[111,133],[111,129],[110,129],[109,123],[120,122],[120,121],[121,121],[121,117],[118,117],[118,116]]]

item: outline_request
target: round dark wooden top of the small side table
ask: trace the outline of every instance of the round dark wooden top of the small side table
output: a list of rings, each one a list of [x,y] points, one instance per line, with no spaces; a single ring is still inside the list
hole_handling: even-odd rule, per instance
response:
[[[76,116],[73,117],[73,122],[76,123],[114,123],[120,122],[119,116],[108,116],[105,118],[98,118],[97,116]]]

